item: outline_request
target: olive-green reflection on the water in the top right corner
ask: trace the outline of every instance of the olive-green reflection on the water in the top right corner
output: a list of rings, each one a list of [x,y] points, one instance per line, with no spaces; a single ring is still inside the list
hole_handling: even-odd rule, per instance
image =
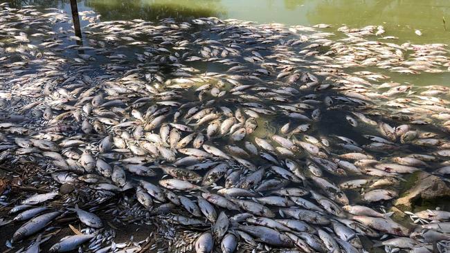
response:
[[[443,18],[450,19],[450,1],[317,1],[307,12],[309,24],[340,26],[382,25],[388,35],[415,43],[447,43],[450,32],[444,30]],[[351,15],[349,15],[351,13]],[[415,35],[420,29],[422,37]]]

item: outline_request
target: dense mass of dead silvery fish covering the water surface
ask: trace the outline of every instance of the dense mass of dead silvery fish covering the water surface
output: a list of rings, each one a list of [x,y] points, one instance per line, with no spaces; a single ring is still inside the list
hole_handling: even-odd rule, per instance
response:
[[[450,174],[450,88],[388,76],[449,71],[447,45],[82,14],[81,39],[60,10],[0,5],[0,157],[37,162],[23,183],[51,191],[1,196],[8,247],[39,252],[76,216],[50,252],[148,241],[115,242],[110,221],[159,223],[159,252],[448,252],[449,210],[386,213],[408,174]]]

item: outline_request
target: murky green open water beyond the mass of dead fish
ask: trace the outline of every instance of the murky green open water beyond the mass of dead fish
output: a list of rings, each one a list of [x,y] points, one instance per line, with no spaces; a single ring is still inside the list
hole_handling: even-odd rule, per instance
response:
[[[36,4],[45,8],[70,11],[68,1],[9,1],[12,7]],[[330,24],[335,31],[341,26],[384,26],[383,36],[395,36],[393,43],[417,44],[450,42],[450,1],[448,0],[84,0],[80,11],[98,12],[101,21],[172,17],[188,20],[194,17],[242,19],[258,23],[287,25]],[[445,24],[447,21],[447,24]],[[87,21],[82,21],[87,25]],[[415,34],[421,30],[422,36]],[[376,39],[376,38],[373,38]],[[378,70],[379,71],[379,70]],[[449,73],[433,75],[402,75],[390,73],[395,82],[415,85],[449,85]]]

